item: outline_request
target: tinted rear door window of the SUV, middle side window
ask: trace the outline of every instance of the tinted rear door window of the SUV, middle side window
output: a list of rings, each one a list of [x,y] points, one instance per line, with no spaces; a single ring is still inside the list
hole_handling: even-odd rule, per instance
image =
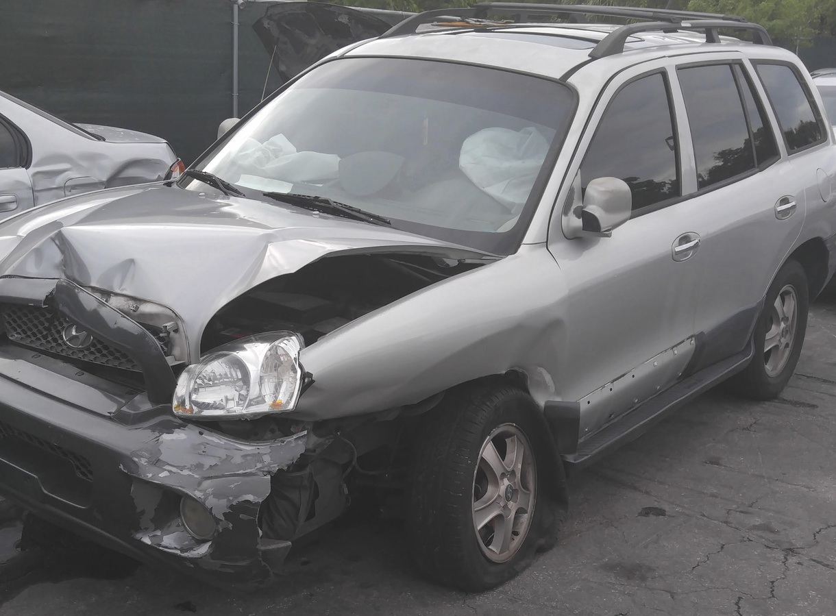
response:
[[[697,188],[752,171],[755,150],[730,64],[678,71],[691,139]]]

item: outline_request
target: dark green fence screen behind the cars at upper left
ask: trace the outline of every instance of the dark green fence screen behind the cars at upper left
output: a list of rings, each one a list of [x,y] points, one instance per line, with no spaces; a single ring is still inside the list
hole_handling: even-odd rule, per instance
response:
[[[239,10],[238,113],[282,83]],[[142,130],[186,163],[232,115],[230,0],[0,0],[0,90],[71,122]]]

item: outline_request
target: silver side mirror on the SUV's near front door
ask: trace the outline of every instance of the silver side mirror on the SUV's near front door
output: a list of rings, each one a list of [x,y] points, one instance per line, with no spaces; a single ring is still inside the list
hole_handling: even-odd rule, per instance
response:
[[[599,177],[590,181],[582,202],[578,181],[573,186],[575,203],[563,216],[566,237],[610,237],[615,227],[630,220],[633,195],[627,182],[617,177]]]

